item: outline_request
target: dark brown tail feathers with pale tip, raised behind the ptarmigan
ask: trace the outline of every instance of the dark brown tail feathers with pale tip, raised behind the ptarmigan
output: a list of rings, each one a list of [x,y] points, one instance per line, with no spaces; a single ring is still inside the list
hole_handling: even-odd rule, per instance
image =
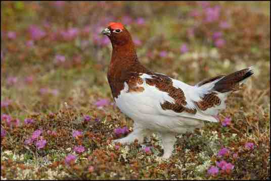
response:
[[[236,89],[239,82],[250,77],[253,74],[252,68],[243,69],[241,71],[234,72],[228,76],[225,76],[221,80],[215,83],[213,90],[218,92],[229,92]]]

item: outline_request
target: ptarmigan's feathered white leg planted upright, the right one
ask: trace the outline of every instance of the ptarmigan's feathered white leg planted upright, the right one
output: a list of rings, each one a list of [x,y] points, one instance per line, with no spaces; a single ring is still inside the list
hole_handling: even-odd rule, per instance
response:
[[[174,149],[174,143],[177,140],[173,133],[160,133],[162,144],[164,147],[163,159],[168,159]]]

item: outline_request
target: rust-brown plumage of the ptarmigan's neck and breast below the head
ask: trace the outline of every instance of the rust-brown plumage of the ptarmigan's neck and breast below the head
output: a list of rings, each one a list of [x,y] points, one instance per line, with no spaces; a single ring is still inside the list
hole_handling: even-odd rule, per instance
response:
[[[113,50],[107,78],[113,98],[118,97],[124,88],[124,82],[132,76],[148,72],[138,61],[136,48],[129,32],[125,29],[122,33],[122,37],[110,37]]]

